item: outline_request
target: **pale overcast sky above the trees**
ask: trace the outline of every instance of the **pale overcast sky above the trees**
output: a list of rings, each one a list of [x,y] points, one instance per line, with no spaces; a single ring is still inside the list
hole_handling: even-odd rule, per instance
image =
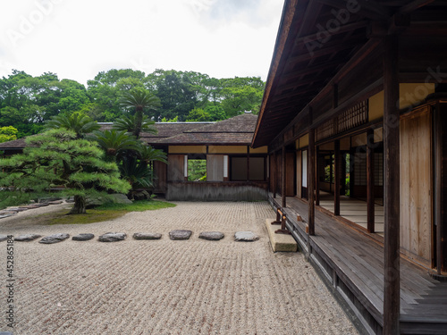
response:
[[[266,80],[282,11],[283,0],[3,0],[0,78],[86,84],[131,68]]]

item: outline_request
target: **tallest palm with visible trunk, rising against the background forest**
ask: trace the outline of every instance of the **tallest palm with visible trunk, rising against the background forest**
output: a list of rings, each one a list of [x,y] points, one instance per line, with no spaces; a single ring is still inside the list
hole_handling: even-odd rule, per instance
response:
[[[132,88],[122,94],[120,105],[124,108],[135,108],[135,123],[132,135],[139,138],[143,125],[144,110],[155,110],[160,105],[160,99],[146,89]]]

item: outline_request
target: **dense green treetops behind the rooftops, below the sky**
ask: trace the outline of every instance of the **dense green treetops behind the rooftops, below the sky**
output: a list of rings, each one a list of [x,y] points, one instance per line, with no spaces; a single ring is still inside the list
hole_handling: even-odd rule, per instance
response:
[[[259,77],[215,79],[194,71],[156,70],[146,75],[131,69],[101,71],[87,88],[55,73],[33,77],[14,70],[0,80],[0,128],[13,126],[17,138],[43,130],[59,114],[79,113],[94,121],[115,121],[126,115],[122,94],[145,88],[160,100],[149,113],[153,121],[220,121],[257,113],[265,82]]]

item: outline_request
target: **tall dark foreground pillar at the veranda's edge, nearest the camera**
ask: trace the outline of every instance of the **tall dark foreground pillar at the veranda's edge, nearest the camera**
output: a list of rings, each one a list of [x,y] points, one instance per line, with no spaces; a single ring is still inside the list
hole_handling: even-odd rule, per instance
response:
[[[400,138],[397,35],[384,37],[384,334],[400,333]]]

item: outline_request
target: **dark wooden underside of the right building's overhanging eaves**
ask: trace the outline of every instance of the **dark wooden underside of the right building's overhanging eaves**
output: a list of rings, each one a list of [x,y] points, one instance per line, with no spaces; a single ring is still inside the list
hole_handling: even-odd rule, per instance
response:
[[[356,57],[373,54],[392,25],[411,21],[446,36],[446,10],[447,1],[433,0],[286,0],[253,147],[268,145]]]

